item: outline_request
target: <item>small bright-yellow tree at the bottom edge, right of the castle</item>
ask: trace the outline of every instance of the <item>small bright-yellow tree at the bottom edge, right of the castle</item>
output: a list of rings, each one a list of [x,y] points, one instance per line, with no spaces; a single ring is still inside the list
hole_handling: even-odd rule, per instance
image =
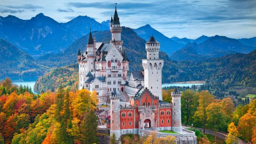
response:
[[[238,144],[237,137],[240,136],[235,123],[231,122],[228,127],[229,134],[226,137],[226,144]]]

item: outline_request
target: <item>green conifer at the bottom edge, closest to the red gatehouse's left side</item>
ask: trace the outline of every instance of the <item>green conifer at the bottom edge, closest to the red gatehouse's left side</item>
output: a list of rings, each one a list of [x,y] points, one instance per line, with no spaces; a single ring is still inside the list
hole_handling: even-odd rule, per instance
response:
[[[90,110],[89,112],[87,112],[85,118],[80,124],[80,141],[82,142],[82,144],[98,143],[97,126],[97,116],[93,110]]]

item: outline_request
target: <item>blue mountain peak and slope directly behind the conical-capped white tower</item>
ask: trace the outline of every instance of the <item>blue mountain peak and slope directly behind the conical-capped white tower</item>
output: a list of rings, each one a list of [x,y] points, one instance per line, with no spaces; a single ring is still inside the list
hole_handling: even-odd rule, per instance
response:
[[[153,36],[161,44],[160,50],[167,53],[168,55],[171,55],[172,52],[184,46],[184,44],[178,43],[170,39],[169,37],[166,37],[161,32],[158,32],[157,30],[153,29],[153,27],[151,27],[150,25],[144,25],[133,30],[146,41],[149,40],[150,36],[153,34]]]

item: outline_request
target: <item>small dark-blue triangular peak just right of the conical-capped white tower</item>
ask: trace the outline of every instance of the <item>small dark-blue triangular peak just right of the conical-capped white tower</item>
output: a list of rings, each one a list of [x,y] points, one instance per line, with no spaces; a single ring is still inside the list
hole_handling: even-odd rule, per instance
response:
[[[197,43],[187,43],[186,46],[174,52],[171,56],[171,60],[181,61],[181,60],[199,60],[203,56],[199,55],[197,50],[199,45]]]

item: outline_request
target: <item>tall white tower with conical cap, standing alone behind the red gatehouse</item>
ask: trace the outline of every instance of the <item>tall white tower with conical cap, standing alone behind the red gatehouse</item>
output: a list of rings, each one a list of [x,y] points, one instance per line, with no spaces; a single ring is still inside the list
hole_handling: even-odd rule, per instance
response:
[[[144,68],[144,87],[162,101],[162,67],[164,60],[159,59],[160,43],[153,35],[146,42],[147,59],[142,59]]]

